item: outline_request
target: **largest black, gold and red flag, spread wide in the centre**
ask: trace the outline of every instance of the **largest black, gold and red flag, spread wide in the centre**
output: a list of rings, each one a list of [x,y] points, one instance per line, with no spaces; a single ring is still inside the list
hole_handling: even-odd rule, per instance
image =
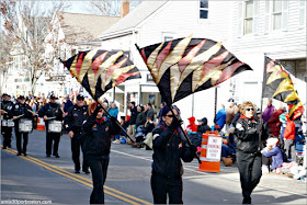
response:
[[[138,50],[169,105],[241,71],[252,70],[221,43],[212,39],[187,36]]]

